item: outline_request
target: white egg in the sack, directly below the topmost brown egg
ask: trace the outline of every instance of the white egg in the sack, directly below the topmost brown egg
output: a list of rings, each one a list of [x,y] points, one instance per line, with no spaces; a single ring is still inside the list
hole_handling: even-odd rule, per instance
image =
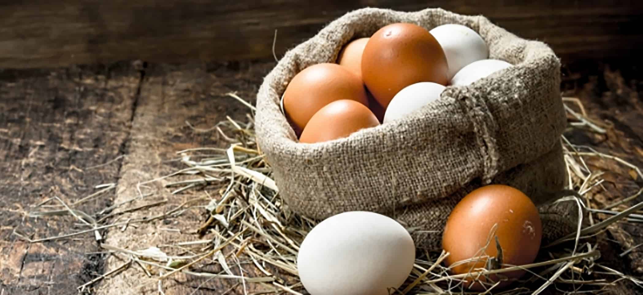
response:
[[[445,88],[444,85],[433,82],[420,82],[404,87],[388,103],[383,123],[403,118],[427,103],[437,100]]]

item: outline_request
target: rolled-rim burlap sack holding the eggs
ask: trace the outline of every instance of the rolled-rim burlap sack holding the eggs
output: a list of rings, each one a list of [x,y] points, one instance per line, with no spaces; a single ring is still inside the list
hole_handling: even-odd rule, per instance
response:
[[[514,66],[471,85],[447,87],[439,100],[405,120],[348,138],[298,143],[280,112],[291,78],[312,64],[334,62],[344,44],[393,22],[428,30],[469,26],[487,42],[489,58]],[[343,211],[383,213],[415,228],[418,247],[439,249],[453,206],[483,184],[512,185],[536,204],[563,188],[560,136],[566,119],[559,71],[546,44],[520,39],[482,16],[434,8],[355,10],[288,51],[266,76],[257,94],[257,141],[291,210],[320,220]],[[545,228],[545,238],[552,238],[548,233]]]

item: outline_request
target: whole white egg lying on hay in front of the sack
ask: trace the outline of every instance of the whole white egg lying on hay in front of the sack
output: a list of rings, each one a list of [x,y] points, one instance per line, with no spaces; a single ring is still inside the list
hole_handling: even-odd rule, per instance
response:
[[[303,287],[312,295],[387,295],[408,278],[415,244],[394,219],[349,211],[323,220],[297,255]]]

